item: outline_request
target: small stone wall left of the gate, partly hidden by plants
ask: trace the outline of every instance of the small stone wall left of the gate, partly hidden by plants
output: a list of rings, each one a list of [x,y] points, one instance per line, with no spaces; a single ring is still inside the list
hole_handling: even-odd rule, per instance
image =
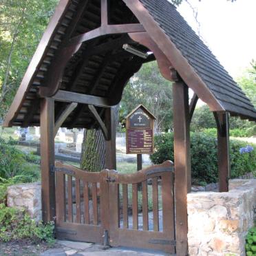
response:
[[[41,183],[34,182],[9,186],[7,205],[9,207],[26,208],[34,220],[42,220]]]

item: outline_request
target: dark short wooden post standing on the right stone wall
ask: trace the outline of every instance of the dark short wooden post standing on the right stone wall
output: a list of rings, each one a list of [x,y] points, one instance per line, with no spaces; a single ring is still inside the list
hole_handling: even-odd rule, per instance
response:
[[[217,156],[220,192],[228,192],[228,178],[231,175],[229,160],[228,113],[214,112],[217,122]]]

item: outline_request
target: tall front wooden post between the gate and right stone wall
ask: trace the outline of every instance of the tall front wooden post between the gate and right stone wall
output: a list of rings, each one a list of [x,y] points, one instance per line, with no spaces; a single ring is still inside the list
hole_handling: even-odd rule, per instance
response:
[[[189,88],[183,82],[173,83],[174,168],[176,207],[176,255],[187,255],[186,194],[191,191],[189,136]]]

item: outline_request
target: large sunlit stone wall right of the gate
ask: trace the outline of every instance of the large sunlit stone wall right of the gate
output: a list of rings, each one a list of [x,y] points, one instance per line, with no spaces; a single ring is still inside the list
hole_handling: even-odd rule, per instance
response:
[[[245,235],[256,220],[256,180],[231,180],[229,189],[187,195],[189,255],[246,255]]]

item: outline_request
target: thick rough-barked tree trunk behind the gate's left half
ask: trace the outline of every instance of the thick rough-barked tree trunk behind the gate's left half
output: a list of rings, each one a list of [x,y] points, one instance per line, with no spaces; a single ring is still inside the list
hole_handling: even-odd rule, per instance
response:
[[[116,106],[115,119],[118,126],[119,105]],[[100,129],[85,129],[81,152],[81,169],[91,172],[105,168],[105,138]]]

